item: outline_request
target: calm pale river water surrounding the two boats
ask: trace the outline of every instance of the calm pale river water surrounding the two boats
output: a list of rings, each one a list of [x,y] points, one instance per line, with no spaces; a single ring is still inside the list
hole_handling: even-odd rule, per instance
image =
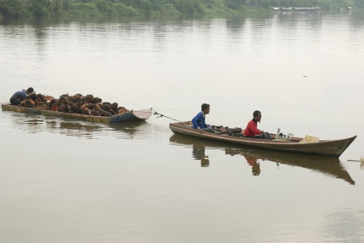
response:
[[[0,102],[20,88],[303,137],[339,159],[0,111],[0,242],[363,242],[364,18],[2,22]],[[307,76],[307,77],[304,77]]]

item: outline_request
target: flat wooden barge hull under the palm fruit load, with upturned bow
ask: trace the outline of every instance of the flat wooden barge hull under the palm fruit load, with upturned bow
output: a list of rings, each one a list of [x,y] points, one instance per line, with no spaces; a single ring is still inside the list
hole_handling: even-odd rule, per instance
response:
[[[11,105],[11,104],[1,104],[1,107],[3,110],[19,111],[19,112],[25,112],[25,113],[41,114],[41,115],[52,116],[52,117],[63,117],[63,118],[78,119],[78,120],[83,120],[83,121],[94,121],[94,122],[104,122],[104,123],[145,121],[152,114],[151,108],[145,109],[145,110],[131,110],[131,111],[128,111],[128,112],[125,112],[122,114],[117,114],[117,115],[114,115],[111,117],[98,117],[98,116],[87,116],[87,115],[81,115],[81,114],[65,113],[65,112],[60,112],[60,111],[27,108],[27,107],[21,107],[18,105]]]

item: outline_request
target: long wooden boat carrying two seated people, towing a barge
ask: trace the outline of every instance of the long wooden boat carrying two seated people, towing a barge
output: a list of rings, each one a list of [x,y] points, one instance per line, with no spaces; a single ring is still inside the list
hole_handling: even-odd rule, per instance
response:
[[[338,140],[320,140],[314,143],[298,143],[302,138],[293,137],[291,141],[276,141],[276,140],[262,140],[262,139],[248,139],[240,137],[232,137],[226,134],[217,135],[208,132],[199,133],[196,129],[192,128],[191,121],[170,123],[169,128],[176,134],[184,134],[198,138],[213,139],[236,143],[240,145],[253,146],[264,149],[279,150],[285,152],[292,152],[298,154],[310,154],[318,156],[339,157],[347,147],[354,141],[357,136],[348,139]],[[224,130],[222,128],[221,130]],[[244,130],[241,132],[244,133]],[[270,134],[274,139],[275,134]]]

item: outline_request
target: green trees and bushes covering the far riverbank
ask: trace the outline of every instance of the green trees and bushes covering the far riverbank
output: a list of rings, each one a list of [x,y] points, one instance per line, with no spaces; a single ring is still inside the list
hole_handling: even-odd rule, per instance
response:
[[[0,0],[0,19],[258,14],[270,7],[364,8],[364,0]]]

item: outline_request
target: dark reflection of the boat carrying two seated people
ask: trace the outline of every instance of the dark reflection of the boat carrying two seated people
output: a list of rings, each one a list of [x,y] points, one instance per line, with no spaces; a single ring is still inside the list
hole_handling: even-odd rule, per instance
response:
[[[338,179],[342,179],[355,185],[355,181],[341,164],[338,158],[326,158],[321,156],[308,156],[283,153],[278,151],[266,151],[250,147],[237,147],[228,143],[207,139],[195,139],[188,136],[174,134],[169,139],[170,144],[184,147],[192,147],[192,156],[194,159],[201,160],[208,158],[205,154],[206,148],[224,151],[226,155],[244,156],[248,165],[251,167],[253,175],[261,174],[260,162],[272,161],[280,164],[297,166],[308,170],[318,172],[320,174],[329,175]],[[185,146],[187,145],[187,146]]]

